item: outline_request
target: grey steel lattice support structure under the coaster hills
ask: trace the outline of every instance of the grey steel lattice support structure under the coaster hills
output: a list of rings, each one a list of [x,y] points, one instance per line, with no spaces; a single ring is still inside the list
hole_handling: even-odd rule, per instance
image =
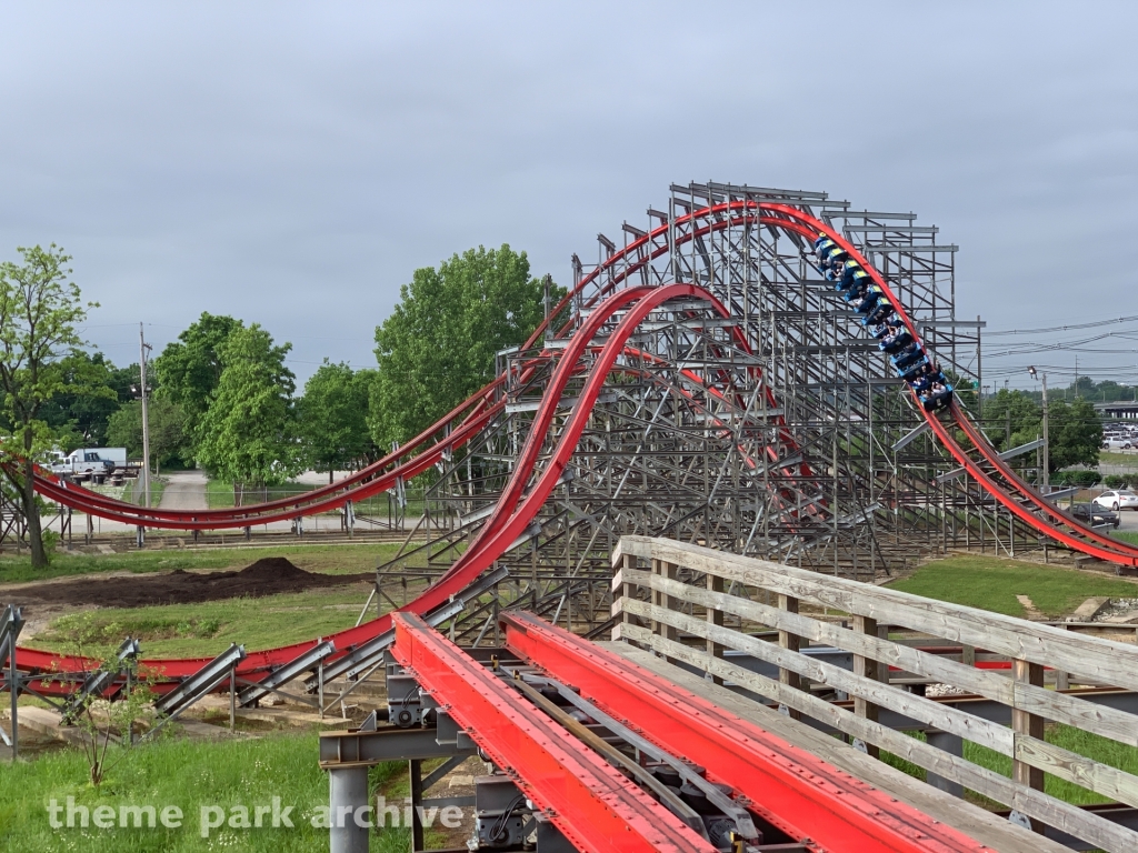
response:
[[[863,250],[905,303],[962,391],[982,381],[982,322],[958,318],[956,246],[914,214],[855,210],[825,193],[732,184],[674,185],[624,245],[599,237],[599,262],[574,256],[569,320],[529,350],[500,355],[501,414],[438,464],[426,491],[427,544],[380,568],[379,589],[406,602],[470,545],[517,464],[562,354],[609,293],[692,283],[727,307],[674,300],[630,338],[588,416],[572,464],[504,554],[503,607],[525,606],[600,633],[608,554],[622,535],[667,536],[846,577],[873,579],[950,547],[1015,554],[1042,547],[955,467],[913,408],[860,317],[810,264],[800,235],[760,221],[760,204],[817,216]],[[544,437],[550,458],[575,414],[580,359]],[[554,324],[556,325],[556,324]],[[563,412],[563,415],[561,414]],[[979,414],[979,413],[976,413]],[[908,440],[905,440],[905,439]],[[415,561],[415,562],[412,562]],[[411,569],[427,563],[426,569]],[[456,635],[461,641],[472,632]]]

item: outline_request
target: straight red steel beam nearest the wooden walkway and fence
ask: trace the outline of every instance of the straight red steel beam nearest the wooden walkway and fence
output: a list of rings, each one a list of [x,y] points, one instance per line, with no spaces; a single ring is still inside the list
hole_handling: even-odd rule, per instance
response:
[[[667,752],[707,769],[800,842],[858,853],[988,850],[832,764],[531,613],[501,616],[506,646]],[[805,843],[805,842],[802,842]]]

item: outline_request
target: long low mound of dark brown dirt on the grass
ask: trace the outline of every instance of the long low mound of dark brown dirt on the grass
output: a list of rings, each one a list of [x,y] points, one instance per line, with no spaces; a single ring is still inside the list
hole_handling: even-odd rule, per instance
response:
[[[156,604],[197,604],[224,598],[259,598],[281,593],[341,587],[371,581],[368,574],[306,572],[284,557],[265,557],[233,572],[188,572],[175,569],[162,574],[131,578],[82,578],[65,583],[40,583],[19,589],[17,604],[30,610],[40,605],[91,605],[97,607],[148,607]]]

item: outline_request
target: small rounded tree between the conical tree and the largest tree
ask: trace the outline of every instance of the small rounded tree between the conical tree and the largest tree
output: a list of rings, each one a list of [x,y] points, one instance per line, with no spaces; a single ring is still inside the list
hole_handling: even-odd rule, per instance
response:
[[[325,358],[297,403],[298,429],[307,462],[316,471],[361,467],[378,458],[368,429],[368,399],[376,371],[353,371]]]

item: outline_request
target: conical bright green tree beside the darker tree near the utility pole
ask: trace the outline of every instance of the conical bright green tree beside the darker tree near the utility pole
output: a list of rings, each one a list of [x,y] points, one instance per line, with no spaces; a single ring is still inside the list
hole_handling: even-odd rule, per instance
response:
[[[221,378],[195,428],[195,455],[212,477],[233,483],[238,505],[245,486],[279,485],[300,472],[296,378],[284,366],[291,348],[274,346],[256,323],[217,347]]]

